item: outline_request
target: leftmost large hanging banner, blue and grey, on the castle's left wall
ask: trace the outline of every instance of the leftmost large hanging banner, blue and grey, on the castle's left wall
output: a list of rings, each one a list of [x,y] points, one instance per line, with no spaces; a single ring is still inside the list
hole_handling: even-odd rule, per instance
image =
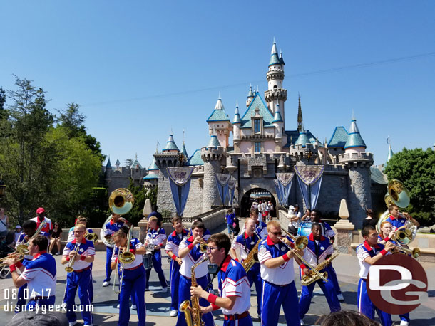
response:
[[[178,216],[183,216],[183,211],[188,201],[190,177],[193,167],[168,167],[170,190],[177,209]]]

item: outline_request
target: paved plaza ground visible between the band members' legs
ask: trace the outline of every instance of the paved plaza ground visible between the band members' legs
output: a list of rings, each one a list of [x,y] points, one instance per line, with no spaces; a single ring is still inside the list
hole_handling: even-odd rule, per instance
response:
[[[218,230],[217,230],[218,231]],[[222,230],[219,230],[222,231]],[[163,253],[163,251],[162,251]],[[66,284],[66,272],[64,270],[64,265],[60,264],[61,256],[54,256],[58,262],[58,284],[56,287],[56,303],[60,304],[63,298],[63,292],[65,290]],[[118,296],[113,293],[112,287],[102,288],[101,284],[105,277],[104,265],[106,263],[106,253],[97,252],[96,260],[93,263],[93,279],[95,280],[94,285],[94,323],[95,325],[103,326],[116,326],[118,322]],[[342,309],[347,310],[357,310],[357,282],[359,280],[359,263],[357,258],[349,255],[340,255],[334,260],[334,268],[337,271],[339,278],[339,283],[342,288],[345,302],[342,303]],[[429,300],[426,303],[420,305],[416,310],[411,312],[411,325],[435,325],[435,264],[434,263],[423,263],[426,270],[426,274],[429,279]],[[168,259],[163,259],[163,270],[165,270],[165,275],[169,279],[168,270],[169,264]],[[113,278],[112,278],[113,279]],[[217,286],[215,282],[215,288]],[[300,281],[296,280],[297,289],[299,292]],[[16,302],[16,300],[9,300],[5,296],[5,289],[9,290],[12,294],[14,289],[12,286],[12,280],[6,278],[5,280],[0,280],[0,325],[6,325],[9,320],[14,316],[13,312],[5,311],[6,305],[11,305]],[[6,295],[8,293],[6,290]],[[158,282],[158,277],[155,271],[152,271],[150,275],[150,291],[145,293],[145,302],[147,307],[147,322],[146,325],[175,325],[175,318],[169,317],[169,307],[170,307],[170,293],[160,293],[159,291],[160,283]],[[76,298],[76,303],[78,303],[78,298]],[[251,315],[256,316],[257,302],[255,299],[255,291],[252,290],[251,296]],[[137,322],[137,316],[135,311],[131,311],[131,325],[135,325]],[[312,299],[312,305],[309,310],[309,314],[305,317],[305,323],[307,325],[316,325],[316,321],[319,316],[329,313],[329,307],[327,305],[326,299],[322,295],[322,291],[317,287],[314,289],[314,297]],[[396,325],[399,325],[398,316],[394,316],[393,320]],[[81,321],[81,316],[78,315],[78,321]],[[223,325],[222,314],[215,312],[215,322],[216,325]],[[81,326],[83,324],[78,324]],[[254,325],[260,325],[260,320],[254,319]],[[285,318],[281,312],[280,315],[280,325],[285,325]]]

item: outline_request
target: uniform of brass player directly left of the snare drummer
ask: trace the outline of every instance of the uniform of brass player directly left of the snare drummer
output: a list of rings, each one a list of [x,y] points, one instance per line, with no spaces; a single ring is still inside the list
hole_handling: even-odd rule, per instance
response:
[[[132,238],[130,241],[130,251],[135,254],[135,251],[139,248],[143,248],[143,244],[136,238]],[[116,247],[113,250],[113,256],[111,261],[118,262],[119,248]],[[138,326],[145,326],[146,307],[145,307],[145,282],[146,273],[143,266],[142,255],[135,254],[135,260],[133,263],[122,264],[118,263],[118,273],[122,273],[124,269],[123,283],[121,286],[121,293],[119,295],[119,320],[118,326],[127,326],[130,320],[130,307],[129,298],[132,296],[135,300],[135,305],[138,309]]]

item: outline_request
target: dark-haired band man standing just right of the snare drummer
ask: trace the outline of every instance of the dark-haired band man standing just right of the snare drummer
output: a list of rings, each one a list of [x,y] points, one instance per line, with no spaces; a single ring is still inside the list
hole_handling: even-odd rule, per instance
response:
[[[172,258],[170,261],[170,317],[175,317],[178,314],[178,287],[180,284],[180,266],[183,261],[178,256],[178,247],[183,238],[188,236],[189,231],[183,228],[183,222],[180,216],[175,216],[172,219],[173,233],[170,233],[168,242],[166,242],[165,251]]]

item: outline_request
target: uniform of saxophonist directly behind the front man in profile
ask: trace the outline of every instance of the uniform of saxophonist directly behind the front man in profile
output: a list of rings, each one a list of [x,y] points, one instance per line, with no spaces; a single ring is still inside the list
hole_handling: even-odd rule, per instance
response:
[[[188,248],[193,243],[193,236],[190,236],[190,238],[184,238],[183,241],[181,241],[179,248]],[[182,258],[183,263],[180,266],[180,287],[178,289],[178,306],[180,306],[180,303],[182,303],[184,300],[190,301],[190,286],[192,286],[192,280],[191,280],[191,269],[195,263],[198,263],[198,261],[203,259],[203,256],[206,255],[205,253],[200,251],[200,244],[196,244],[193,246],[193,248],[188,252],[188,254]],[[207,262],[200,263],[197,268],[195,268],[195,278],[196,283],[201,286],[201,288],[206,289],[208,280],[207,280],[207,274],[208,274],[208,267]],[[207,300],[200,298],[200,305],[203,307],[208,307],[209,303]],[[203,321],[205,322],[205,326],[213,326],[215,323],[213,322],[213,315],[211,312],[208,312],[203,315]],[[178,310],[178,316],[177,316],[177,324],[176,326],[186,326],[186,321],[184,317],[184,313],[180,312]]]

